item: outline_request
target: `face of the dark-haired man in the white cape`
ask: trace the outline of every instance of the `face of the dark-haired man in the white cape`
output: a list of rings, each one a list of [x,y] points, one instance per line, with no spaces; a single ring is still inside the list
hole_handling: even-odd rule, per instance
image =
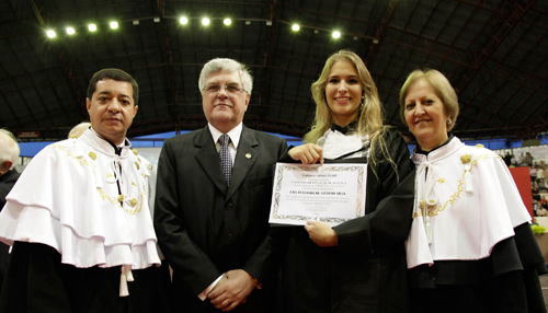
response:
[[[96,83],[92,98],[85,100],[93,129],[114,144],[121,144],[132,126],[138,106],[129,82],[111,79]]]

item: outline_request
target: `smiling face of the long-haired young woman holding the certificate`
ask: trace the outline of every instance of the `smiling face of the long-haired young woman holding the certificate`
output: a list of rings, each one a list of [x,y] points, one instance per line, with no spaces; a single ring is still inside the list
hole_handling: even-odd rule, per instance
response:
[[[349,60],[335,61],[326,85],[326,100],[334,124],[344,127],[357,118],[362,93],[354,65]]]

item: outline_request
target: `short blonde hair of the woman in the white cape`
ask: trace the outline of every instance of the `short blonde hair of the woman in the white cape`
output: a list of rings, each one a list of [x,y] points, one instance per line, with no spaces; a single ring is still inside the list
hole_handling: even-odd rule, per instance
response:
[[[425,70],[414,70],[412,71],[400,90],[400,118],[407,126],[406,121],[406,96],[409,92],[409,88],[415,83],[418,80],[425,79],[436,95],[442,100],[445,112],[449,115],[449,120],[447,121],[447,131],[450,131],[458,117],[458,96],[455,89],[450,85],[449,80],[439,71],[433,69]]]

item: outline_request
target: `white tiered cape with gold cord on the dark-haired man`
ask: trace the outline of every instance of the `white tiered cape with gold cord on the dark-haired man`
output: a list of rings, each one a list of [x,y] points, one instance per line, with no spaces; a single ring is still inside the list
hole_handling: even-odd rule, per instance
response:
[[[156,171],[125,143],[117,155],[88,129],[44,148],[7,196],[0,241],[49,245],[79,268],[122,266],[126,295],[130,270],[159,266],[161,252],[149,205]]]

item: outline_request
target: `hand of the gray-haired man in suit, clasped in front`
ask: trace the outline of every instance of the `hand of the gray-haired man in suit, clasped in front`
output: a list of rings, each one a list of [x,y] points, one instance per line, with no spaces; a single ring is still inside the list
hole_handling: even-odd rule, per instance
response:
[[[207,294],[216,309],[231,311],[246,303],[248,295],[256,287],[256,280],[243,269],[232,269]]]

